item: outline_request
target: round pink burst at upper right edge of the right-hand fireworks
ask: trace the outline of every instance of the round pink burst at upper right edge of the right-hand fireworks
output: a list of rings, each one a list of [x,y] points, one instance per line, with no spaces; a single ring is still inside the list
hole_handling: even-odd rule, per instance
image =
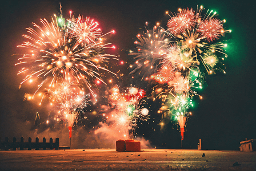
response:
[[[218,39],[223,33],[222,21],[218,18],[210,18],[200,23],[198,32],[201,32],[208,42]]]

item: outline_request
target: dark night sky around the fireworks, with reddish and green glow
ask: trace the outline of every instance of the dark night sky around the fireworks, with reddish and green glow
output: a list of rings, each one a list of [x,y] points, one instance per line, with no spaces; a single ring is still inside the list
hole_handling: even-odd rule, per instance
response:
[[[23,101],[25,89],[19,89],[22,77],[17,76],[17,45],[23,41],[22,34],[32,22],[39,18],[50,19],[59,13],[69,15],[69,10],[95,18],[103,32],[114,28],[117,32],[110,42],[118,47],[117,53],[125,61],[126,51],[135,48],[134,39],[139,28],[147,21],[153,25],[166,21],[165,11],[177,13],[178,8],[203,5],[205,9],[217,11],[220,19],[226,19],[226,35],[229,48],[225,60],[226,75],[206,76],[207,87],[201,92],[204,97],[199,101],[193,115],[189,117],[185,131],[184,148],[197,148],[202,139],[205,149],[238,150],[239,142],[256,138],[255,113],[255,2],[249,1],[5,1],[1,3],[1,103],[0,137],[23,136],[22,128],[27,120],[34,120],[35,111],[42,111]],[[161,23],[166,27],[166,22]],[[157,109],[156,109],[157,111]],[[156,118],[157,113],[155,112]],[[151,123],[153,124],[153,123]],[[155,124],[154,132],[145,133],[145,138],[158,148],[180,148],[180,138],[173,124],[166,125],[164,131]],[[141,126],[143,127],[143,125]],[[149,126],[145,126],[149,127]],[[151,126],[150,126],[151,127]],[[172,129],[173,128],[173,129]],[[140,128],[144,132],[147,128]],[[165,145],[166,143],[166,145]],[[163,144],[163,145],[162,145]]]

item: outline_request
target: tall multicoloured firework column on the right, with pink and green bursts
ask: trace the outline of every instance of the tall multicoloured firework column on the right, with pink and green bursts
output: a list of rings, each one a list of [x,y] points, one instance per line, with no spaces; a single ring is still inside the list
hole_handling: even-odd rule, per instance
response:
[[[221,21],[216,12],[210,10],[205,13],[202,6],[197,11],[187,8],[171,14],[166,29],[159,27],[159,23],[154,26],[156,36],[150,37],[148,30],[137,35],[138,52],[130,53],[137,59],[131,68],[136,64],[137,68],[131,74],[146,72],[149,75],[142,79],[157,82],[152,94],[162,99],[162,112],[174,116],[183,127],[183,118],[189,115],[189,107],[193,107],[192,99],[199,96],[197,91],[202,89],[203,72],[226,73],[221,61],[227,57],[223,52],[227,45],[217,40],[231,30],[223,28],[225,19]]]

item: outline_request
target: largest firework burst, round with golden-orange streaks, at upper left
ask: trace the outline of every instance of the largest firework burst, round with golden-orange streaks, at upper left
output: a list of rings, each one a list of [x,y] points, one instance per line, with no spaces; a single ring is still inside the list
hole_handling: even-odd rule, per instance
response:
[[[40,21],[41,26],[33,23],[34,28],[27,28],[29,35],[23,35],[27,42],[18,46],[27,50],[15,64],[23,66],[18,72],[18,75],[25,75],[21,84],[38,80],[36,93],[41,88],[53,88],[62,80],[75,81],[85,85],[95,97],[95,80],[105,83],[101,71],[114,74],[107,70],[106,62],[116,59],[114,55],[103,53],[104,48],[114,46],[103,42],[98,23],[80,16],[65,19],[56,15],[51,22]]]

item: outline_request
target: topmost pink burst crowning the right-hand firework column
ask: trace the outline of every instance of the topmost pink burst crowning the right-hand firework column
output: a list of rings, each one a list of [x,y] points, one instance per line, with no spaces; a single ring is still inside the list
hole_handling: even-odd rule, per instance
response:
[[[196,18],[194,13],[193,9],[183,9],[177,16],[171,17],[167,22],[171,34],[178,35],[193,27]]]

